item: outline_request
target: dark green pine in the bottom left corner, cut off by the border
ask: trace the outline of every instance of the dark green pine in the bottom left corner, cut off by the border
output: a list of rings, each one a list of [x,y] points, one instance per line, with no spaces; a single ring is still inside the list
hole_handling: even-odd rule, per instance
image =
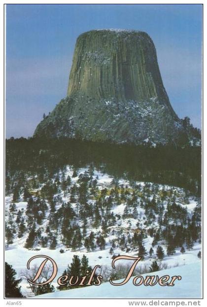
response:
[[[5,262],[5,297],[6,298],[24,298],[21,293],[20,279],[15,279],[16,271],[7,262]]]

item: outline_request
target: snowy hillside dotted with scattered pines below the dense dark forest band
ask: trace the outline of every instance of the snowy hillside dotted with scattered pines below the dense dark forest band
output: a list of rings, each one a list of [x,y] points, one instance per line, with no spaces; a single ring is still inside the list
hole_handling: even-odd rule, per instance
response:
[[[115,178],[92,166],[68,165],[53,175],[28,173],[20,179],[20,188],[13,184],[6,196],[5,261],[23,277],[27,297],[34,293],[24,274],[35,255],[53,258],[59,276],[74,255],[86,255],[91,267],[108,271],[105,280],[119,254],[142,257],[139,274],[154,261],[160,269],[177,270],[201,262],[201,202],[187,190]],[[57,290],[56,281],[52,284]]]

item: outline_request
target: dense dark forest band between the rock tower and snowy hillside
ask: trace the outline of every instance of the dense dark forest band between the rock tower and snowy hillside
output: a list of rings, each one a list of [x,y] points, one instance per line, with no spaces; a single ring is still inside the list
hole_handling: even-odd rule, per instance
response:
[[[51,174],[70,164],[93,164],[108,174],[129,180],[169,184],[201,194],[201,147],[115,145],[71,139],[6,140],[6,172]]]

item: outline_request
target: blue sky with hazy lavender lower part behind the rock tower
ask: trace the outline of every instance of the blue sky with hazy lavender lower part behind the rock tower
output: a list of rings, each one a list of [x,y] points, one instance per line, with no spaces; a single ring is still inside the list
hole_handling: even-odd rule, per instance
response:
[[[78,35],[107,28],[149,34],[173,109],[201,127],[202,5],[10,4],[6,6],[6,137],[33,135],[43,113],[66,96]]]

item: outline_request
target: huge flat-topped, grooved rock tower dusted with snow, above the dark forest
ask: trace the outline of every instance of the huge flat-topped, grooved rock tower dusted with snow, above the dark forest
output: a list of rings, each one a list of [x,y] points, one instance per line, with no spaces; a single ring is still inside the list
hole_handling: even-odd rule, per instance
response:
[[[67,97],[35,136],[136,144],[172,141],[180,130],[144,32],[94,30],[77,38]]]

